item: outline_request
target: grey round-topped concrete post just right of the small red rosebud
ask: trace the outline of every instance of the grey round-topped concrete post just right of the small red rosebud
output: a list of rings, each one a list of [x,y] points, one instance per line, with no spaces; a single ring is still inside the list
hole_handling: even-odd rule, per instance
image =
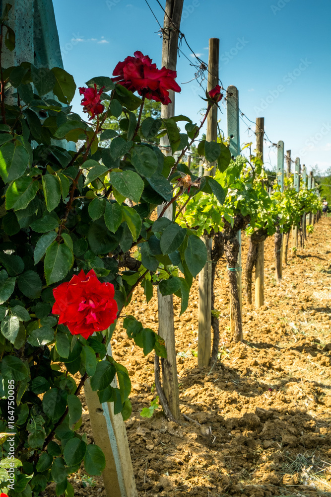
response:
[[[227,115],[227,127],[228,127],[228,137],[230,139],[229,149],[231,152],[231,158],[233,160],[240,154],[240,136],[239,136],[239,92],[236,86],[230,85],[226,90],[226,115]],[[238,260],[236,264],[236,276],[237,276],[237,287],[238,296],[240,302],[240,314],[242,315],[242,279],[241,279],[241,231],[237,233],[237,240],[239,242],[239,253]],[[230,294],[230,327],[232,335],[235,332],[234,319],[232,316],[232,305],[231,305],[231,294]]]

